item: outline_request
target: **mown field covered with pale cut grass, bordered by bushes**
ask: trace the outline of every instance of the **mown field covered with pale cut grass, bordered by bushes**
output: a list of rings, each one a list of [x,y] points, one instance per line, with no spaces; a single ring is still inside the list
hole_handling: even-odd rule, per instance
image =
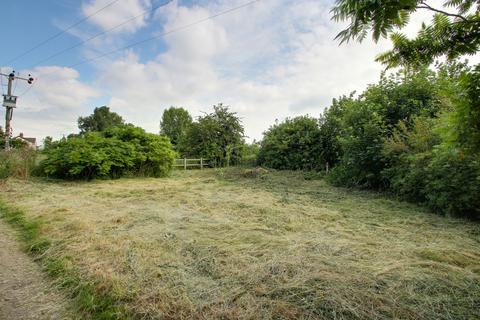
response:
[[[59,285],[75,274],[121,306],[112,317],[480,318],[477,223],[301,173],[9,180],[0,191],[40,221]]]

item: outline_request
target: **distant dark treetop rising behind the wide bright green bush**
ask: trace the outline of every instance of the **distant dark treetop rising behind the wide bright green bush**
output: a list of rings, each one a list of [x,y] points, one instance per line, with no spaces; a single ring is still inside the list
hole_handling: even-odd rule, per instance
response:
[[[124,123],[125,121],[122,117],[117,113],[110,111],[110,108],[107,106],[95,108],[93,114],[87,117],[78,118],[80,134],[85,134],[87,132],[102,132],[108,128],[120,126]]]

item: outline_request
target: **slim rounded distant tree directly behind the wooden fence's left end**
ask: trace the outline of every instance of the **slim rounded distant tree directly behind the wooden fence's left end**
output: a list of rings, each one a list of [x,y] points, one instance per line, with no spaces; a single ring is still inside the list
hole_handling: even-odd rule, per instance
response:
[[[185,141],[192,124],[192,116],[184,108],[170,107],[163,111],[160,121],[160,134],[166,135],[178,150]]]

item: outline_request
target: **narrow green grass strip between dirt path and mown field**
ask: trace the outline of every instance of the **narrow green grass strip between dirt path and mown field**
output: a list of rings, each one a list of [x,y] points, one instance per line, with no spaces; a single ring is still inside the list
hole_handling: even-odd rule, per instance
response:
[[[88,319],[132,319],[133,315],[122,307],[122,298],[104,285],[97,287],[95,280],[82,279],[80,272],[71,267],[68,257],[49,253],[52,241],[41,236],[42,221],[29,220],[25,213],[0,200],[0,218],[19,232],[25,251],[46,272],[60,289],[73,301],[74,311]]]

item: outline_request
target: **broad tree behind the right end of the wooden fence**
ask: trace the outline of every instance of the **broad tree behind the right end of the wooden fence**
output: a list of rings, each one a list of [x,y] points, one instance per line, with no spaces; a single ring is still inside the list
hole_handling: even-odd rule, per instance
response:
[[[203,157],[216,166],[239,164],[244,144],[240,118],[228,106],[213,106],[213,112],[201,116],[190,126],[184,146],[186,156]]]

